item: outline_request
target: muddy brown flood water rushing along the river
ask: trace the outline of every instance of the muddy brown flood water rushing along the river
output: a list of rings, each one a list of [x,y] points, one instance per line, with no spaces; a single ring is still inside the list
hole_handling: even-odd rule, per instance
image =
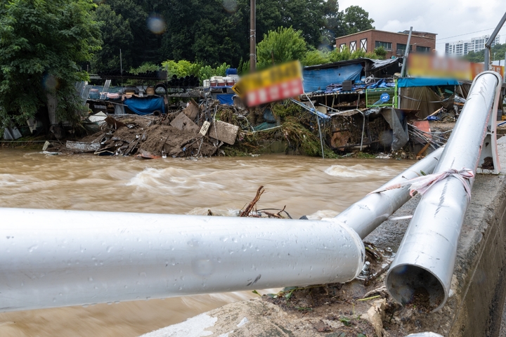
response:
[[[259,209],[286,205],[292,218],[331,217],[412,164],[285,155],[141,160],[0,149],[0,206],[195,215],[210,209],[230,216],[263,185]],[[4,312],[0,336],[139,336],[254,296],[219,293]]]

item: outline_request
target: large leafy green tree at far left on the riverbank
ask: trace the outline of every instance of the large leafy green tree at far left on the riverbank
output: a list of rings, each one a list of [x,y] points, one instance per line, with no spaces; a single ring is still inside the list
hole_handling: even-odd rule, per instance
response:
[[[56,118],[76,121],[79,64],[98,50],[91,0],[7,0],[0,4],[0,122],[24,123],[56,96]],[[47,110],[46,110],[47,113]]]

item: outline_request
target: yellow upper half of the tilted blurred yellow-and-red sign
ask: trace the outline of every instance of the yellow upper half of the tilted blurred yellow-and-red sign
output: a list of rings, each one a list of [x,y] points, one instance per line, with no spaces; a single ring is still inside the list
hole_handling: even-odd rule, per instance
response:
[[[292,61],[283,65],[276,65],[268,70],[247,74],[238,81],[232,90],[240,97],[250,91],[257,91],[261,88],[267,88],[292,81],[302,79],[302,68],[299,61]]]

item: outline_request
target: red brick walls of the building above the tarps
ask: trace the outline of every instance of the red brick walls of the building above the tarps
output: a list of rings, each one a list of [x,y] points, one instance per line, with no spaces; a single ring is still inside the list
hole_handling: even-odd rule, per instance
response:
[[[397,44],[407,44],[408,34],[402,33],[391,33],[382,32],[380,30],[366,30],[353,35],[347,35],[346,37],[339,37],[336,39],[336,48],[339,50],[341,44],[346,44],[346,48],[349,48],[351,41],[356,41],[357,48],[360,48],[360,40],[367,39],[367,52],[372,53],[375,49],[376,41],[390,42],[392,44],[391,51],[387,51],[386,58],[391,58],[392,55],[396,55]],[[429,47],[429,51],[436,48],[436,34],[427,33],[425,37],[418,36],[417,33],[411,34],[410,45],[412,51],[416,52],[417,46]]]

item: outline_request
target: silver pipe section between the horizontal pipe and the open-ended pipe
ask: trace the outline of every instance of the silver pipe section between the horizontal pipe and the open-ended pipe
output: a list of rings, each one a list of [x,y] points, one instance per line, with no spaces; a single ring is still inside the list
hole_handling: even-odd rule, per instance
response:
[[[380,187],[380,189],[416,178],[422,174],[422,171],[424,173],[432,173],[442,152],[443,147],[440,147],[390,180]],[[339,215],[335,216],[335,218],[332,218],[332,221],[348,225],[363,239],[375,230],[377,226],[381,225],[384,220],[387,220],[399,207],[406,204],[409,199],[411,197],[408,186],[396,190],[368,194],[368,196],[349,206],[339,213]]]

